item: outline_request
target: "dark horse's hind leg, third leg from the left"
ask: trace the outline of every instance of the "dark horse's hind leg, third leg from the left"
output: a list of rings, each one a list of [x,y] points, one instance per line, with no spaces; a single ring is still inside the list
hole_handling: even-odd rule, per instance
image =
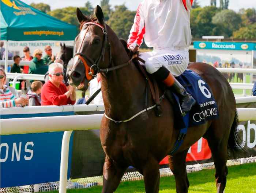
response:
[[[188,150],[179,152],[173,156],[169,156],[169,166],[175,177],[176,192],[187,193],[189,181],[186,168],[186,156]]]

